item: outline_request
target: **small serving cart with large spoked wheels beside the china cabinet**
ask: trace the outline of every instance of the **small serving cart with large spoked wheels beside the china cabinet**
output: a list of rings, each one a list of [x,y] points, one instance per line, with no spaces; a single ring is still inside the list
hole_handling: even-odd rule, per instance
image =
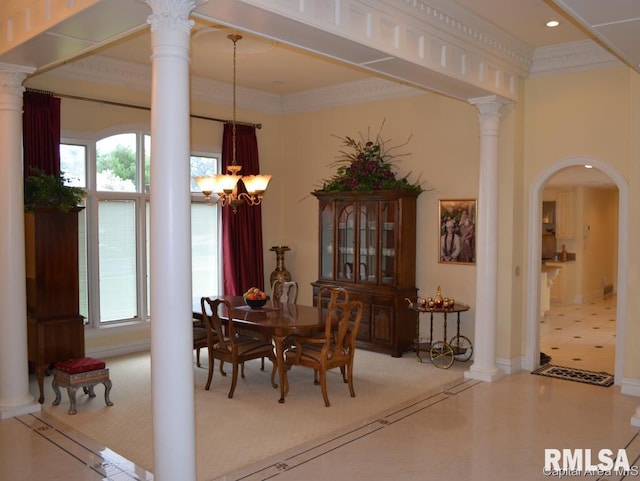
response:
[[[416,304],[409,306],[410,309],[419,313],[429,313],[429,339],[421,341],[420,322],[416,324],[416,339],[414,348],[418,362],[422,362],[420,352],[428,352],[434,366],[441,369],[448,369],[453,365],[453,361],[468,361],[473,353],[473,344],[468,337],[460,335],[460,313],[469,310],[469,306],[456,302],[453,307],[422,308]],[[447,342],[447,315],[457,314],[456,335]],[[433,315],[442,314],[444,337],[441,341],[433,338]]]

